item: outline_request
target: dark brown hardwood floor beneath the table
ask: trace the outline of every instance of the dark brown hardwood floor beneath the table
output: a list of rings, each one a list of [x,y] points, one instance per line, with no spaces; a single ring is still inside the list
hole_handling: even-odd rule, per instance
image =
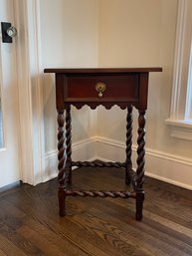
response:
[[[82,189],[126,189],[123,171],[81,168]],[[192,255],[192,191],[145,178],[144,217],[133,199],[68,197],[58,215],[57,179],[0,193],[0,256]]]

